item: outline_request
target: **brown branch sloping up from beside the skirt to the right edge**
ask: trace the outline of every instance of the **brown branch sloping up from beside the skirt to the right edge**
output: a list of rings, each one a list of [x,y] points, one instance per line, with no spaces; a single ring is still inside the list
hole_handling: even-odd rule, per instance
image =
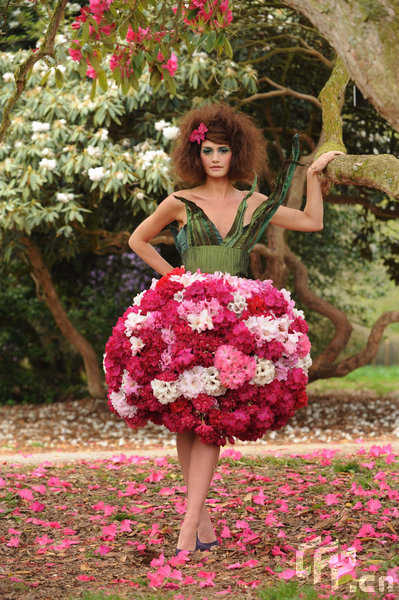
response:
[[[357,354],[354,354],[353,356],[349,356],[348,358],[341,360],[336,364],[320,364],[316,368],[313,365],[310,379],[314,380],[322,378],[325,379],[327,377],[343,377],[344,375],[347,375],[351,371],[354,371],[363,365],[368,365],[377,354],[378,346],[380,345],[385,327],[398,321],[399,311],[383,313],[374,323],[370,331],[367,344],[363,350]]]

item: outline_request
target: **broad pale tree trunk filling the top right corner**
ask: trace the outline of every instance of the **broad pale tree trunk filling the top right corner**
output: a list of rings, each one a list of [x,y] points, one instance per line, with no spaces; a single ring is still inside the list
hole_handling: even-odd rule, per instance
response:
[[[283,0],[305,15],[341,57],[350,78],[399,131],[397,0]]]

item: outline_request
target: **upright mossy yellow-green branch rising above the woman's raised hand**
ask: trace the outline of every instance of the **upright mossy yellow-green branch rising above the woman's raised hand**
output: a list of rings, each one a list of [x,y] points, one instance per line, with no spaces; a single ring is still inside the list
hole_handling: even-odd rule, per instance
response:
[[[348,85],[349,75],[344,67],[344,63],[337,58],[335,67],[319,94],[321,102],[323,130],[325,142],[318,150],[317,156],[330,150],[341,150],[346,152],[342,139],[342,99],[345,88]]]

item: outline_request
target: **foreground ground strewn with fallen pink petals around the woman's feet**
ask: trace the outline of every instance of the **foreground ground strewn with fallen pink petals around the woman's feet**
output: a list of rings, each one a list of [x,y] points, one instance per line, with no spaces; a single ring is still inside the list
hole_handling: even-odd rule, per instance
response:
[[[208,500],[220,547],[189,559],[174,556],[185,510],[175,459],[3,464],[0,597],[393,600],[398,455],[335,452],[222,451]]]

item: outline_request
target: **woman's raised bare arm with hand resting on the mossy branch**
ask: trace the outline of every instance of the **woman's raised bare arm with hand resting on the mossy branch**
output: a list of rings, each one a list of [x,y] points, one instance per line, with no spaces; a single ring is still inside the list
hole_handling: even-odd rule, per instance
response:
[[[321,194],[318,174],[338,154],[344,153],[335,150],[325,152],[308,168],[306,205],[304,210],[280,206],[270,219],[272,225],[278,225],[279,227],[294,231],[320,231],[323,229],[323,196]]]

